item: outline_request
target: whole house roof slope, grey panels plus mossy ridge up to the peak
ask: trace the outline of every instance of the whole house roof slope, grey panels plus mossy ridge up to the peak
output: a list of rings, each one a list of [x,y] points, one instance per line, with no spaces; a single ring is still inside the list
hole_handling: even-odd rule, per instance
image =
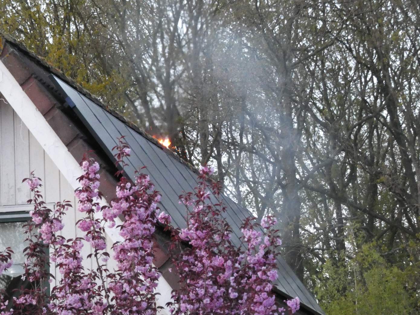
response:
[[[91,95],[45,60],[27,50],[16,40],[7,35],[0,34],[0,36],[2,39],[0,50],[3,50],[5,42],[9,42],[19,53],[37,63],[45,71],[44,73],[31,73],[31,76],[49,87],[50,92],[62,96],[65,105],[76,114],[111,161],[115,162],[112,148],[117,144],[117,138],[126,136],[125,140],[132,150],[128,161],[129,165],[126,168],[127,175],[134,180],[134,171],[146,166],[142,172],[150,175],[156,189],[162,194],[162,209],[171,215],[173,223],[177,227],[185,227],[185,207],[178,204],[178,196],[184,192],[192,191],[197,186],[197,174],[192,165],[184,162],[147,133],[126,121],[121,115],[110,110],[98,98]],[[5,60],[4,52],[1,56],[2,61]],[[9,66],[11,72],[17,70],[16,65],[13,66],[13,61]],[[31,72],[30,68],[24,70]],[[24,82],[19,83],[24,84]],[[244,218],[251,213],[237,205],[226,195],[222,194],[222,201],[227,206],[225,217],[234,233],[232,241],[237,246],[241,246],[239,240],[241,235],[240,225]],[[217,202],[214,196],[212,196],[211,202]],[[310,291],[297,278],[282,257],[278,257],[277,265],[279,278],[274,283],[277,290],[285,297],[299,297],[304,308],[309,309],[314,314],[324,315],[325,313]]]

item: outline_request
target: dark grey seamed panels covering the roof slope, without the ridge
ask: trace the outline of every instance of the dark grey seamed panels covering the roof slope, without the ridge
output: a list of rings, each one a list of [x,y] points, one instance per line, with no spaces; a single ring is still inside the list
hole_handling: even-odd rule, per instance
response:
[[[171,215],[175,226],[186,227],[185,207],[178,204],[178,196],[194,190],[194,187],[197,186],[197,174],[66,82],[53,74],[50,77],[57,88],[66,96],[67,104],[74,110],[108,157],[114,162],[115,157],[112,148],[118,144],[118,137],[125,136],[125,141],[131,147],[131,156],[125,169],[127,176],[134,181],[134,172],[139,167],[146,166],[142,169],[142,172],[150,176],[155,184],[155,189],[162,194],[161,208]],[[241,246],[239,240],[241,235],[240,225],[243,219],[251,214],[223,194],[221,200],[227,207],[225,217],[234,233],[232,242],[236,246]],[[211,202],[217,202],[213,195]],[[274,283],[277,289],[286,296],[299,297],[301,304],[304,304],[315,314],[325,315],[313,295],[297,278],[283,257],[278,257],[277,266],[278,280]]]

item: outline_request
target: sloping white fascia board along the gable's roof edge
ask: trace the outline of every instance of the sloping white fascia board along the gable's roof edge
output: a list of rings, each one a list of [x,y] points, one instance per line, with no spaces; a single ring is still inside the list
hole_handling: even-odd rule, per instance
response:
[[[73,189],[80,187],[77,178],[84,172],[80,168],[79,163],[67,150],[66,145],[61,141],[53,128],[39,112],[32,100],[26,95],[22,87],[12,76],[8,68],[0,60],[0,93],[5,97],[8,104],[11,105],[16,114],[21,118],[23,123],[28,127],[32,135],[37,139],[42,148],[47,152],[48,156],[53,160],[60,172],[71,184]],[[108,205],[105,199],[100,200],[100,205]],[[76,205],[75,205],[76,206]],[[95,218],[102,218],[101,213],[95,213]],[[119,218],[115,219],[115,226],[121,224]],[[122,237],[118,234],[117,228],[109,228],[105,224],[105,232],[113,242],[122,241]],[[171,300],[171,286],[161,276],[159,278],[157,292],[157,304],[166,307],[165,304]]]

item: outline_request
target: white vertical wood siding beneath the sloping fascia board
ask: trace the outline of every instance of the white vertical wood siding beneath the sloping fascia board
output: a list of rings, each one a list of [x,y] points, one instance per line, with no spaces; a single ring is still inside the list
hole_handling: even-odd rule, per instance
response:
[[[69,200],[73,205],[63,220],[61,235],[67,239],[82,237],[83,232],[76,228],[76,222],[83,218],[83,214],[75,209],[74,190],[11,106],[3,100],[0,100],[0,132],[0,206],[26,205],[31,195],[22,179],[34,171],[42,179],[45,202]],[[107,238],[107,247],[110,248],[110,245],[112,241]],[[90,252],[89,244],[85,243],[82,256],[86,257]],[[115,263],[109,260],[108,268],[113,270],[114,266]],[[84,260],[83,267],[96,268],[96,261]],[[53,265],[50,271],[57,279],[60,278]]]

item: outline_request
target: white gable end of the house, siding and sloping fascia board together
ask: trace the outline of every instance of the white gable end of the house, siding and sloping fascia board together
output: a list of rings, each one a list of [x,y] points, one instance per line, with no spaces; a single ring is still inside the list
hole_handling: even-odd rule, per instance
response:
[[[76,178],[83,173],[78,161],[68,152],[67,147],[1,61],[0,93],[10,104],[0,100],[0,212],[6,211],[11,205],[26,203],[29,189],[21,181],[22,178],[29,177],[32,170],[45,183],[43,195],[46,202],[67,199],[76,205],[73,195],[74,189],[79,187]],[[0,98],[3,97],[1,94]],[[100,204],[106,205],[106,201],[102,199]],[[81,214],[74,207],[68,211],[63,220],[65,227],[62,235],[65,238],[82,236],[75,226],[80,218]],[[95,218],[102,218],[102,215],[95,213]],[[119,225],[121,221],[118,222],[117,218],[116,223]],[[105,225],[105,232],[107,250],[110,252],[111,245],[120,241],[121,236],[117,228],[109,228],[108,225]],[[82,256],[86,257],[89,253],[90,246],[84,246]],[[96,268],[93,259],[85,259],[83,265],[86,269]],[[107,267],[110,271],[114,270],[114,266],[115,261],[108,260]],[[52,265],[51,272],[54,270]],[[171,286],[165,278],[159,278],[156,291],[160,293],[157,296],[157,305],[165,309],[158,313],[168,314],[165,304],[171,301]]]

